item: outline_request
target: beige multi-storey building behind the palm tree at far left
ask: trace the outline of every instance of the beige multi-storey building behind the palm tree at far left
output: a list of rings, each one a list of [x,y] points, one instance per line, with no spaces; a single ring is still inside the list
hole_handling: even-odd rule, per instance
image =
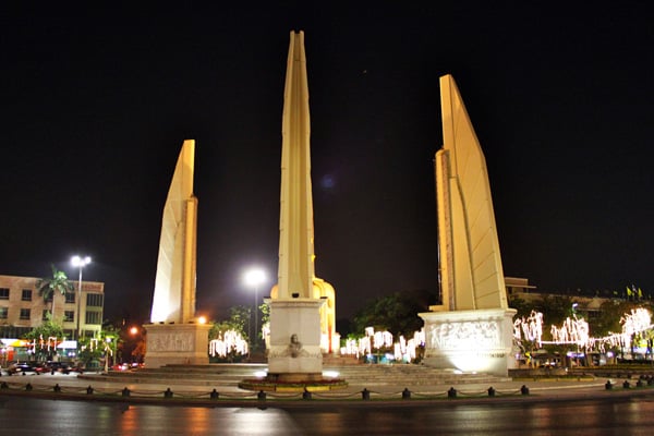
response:
[[[23,338],[50,317],[52,307],[52,319],[61,323],[66,339],[77,339],[77,328],[80,337],[94,337],[101,330],[105,283],[82,281],[80,293],[80,282],[71,280],[73,292],[56,293],[45,300],[38,292],[39,280],[0,276],[0,338]]]

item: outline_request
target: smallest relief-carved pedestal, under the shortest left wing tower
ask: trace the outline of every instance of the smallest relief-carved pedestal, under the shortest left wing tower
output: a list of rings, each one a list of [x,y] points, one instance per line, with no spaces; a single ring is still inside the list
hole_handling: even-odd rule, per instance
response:
[[[206,324],[146,324],[146,367],[170,364],[209,364],[209,329]]]

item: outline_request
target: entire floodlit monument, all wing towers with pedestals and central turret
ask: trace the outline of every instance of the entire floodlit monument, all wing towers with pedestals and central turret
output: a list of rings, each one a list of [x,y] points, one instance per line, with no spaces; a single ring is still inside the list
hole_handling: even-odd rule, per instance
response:
[[[436,153],[441,302],[425,323],[423,363],[506,376],[512,317],[484,154],[450,75],[440,77],[444,145]],[[323,380],[324,353],[339,350],[335,290],[315,276],[311,125],[304,33],[291,32],[282,112],[278,282],[270,307],[267,382]],[[195,318],[197,198],[194,141],[185,141],[164,217],[150,324],[149,367],[208,364],[209,326]]]

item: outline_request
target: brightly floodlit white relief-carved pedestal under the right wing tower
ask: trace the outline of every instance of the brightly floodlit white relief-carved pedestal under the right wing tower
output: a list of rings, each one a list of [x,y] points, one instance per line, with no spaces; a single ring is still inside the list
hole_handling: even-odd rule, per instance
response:
[[[424,364],[508,376],[516,366],[513,308],[426,312]]]

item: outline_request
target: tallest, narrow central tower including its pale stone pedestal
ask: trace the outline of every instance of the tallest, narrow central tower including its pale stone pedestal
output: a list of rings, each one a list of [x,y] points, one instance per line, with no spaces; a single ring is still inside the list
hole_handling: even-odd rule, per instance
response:
[[[282,114],[279,270],[270,305],[268,377],[320,379],[320,306],[314,298],[308,86],[304,33],[291,32]]]

